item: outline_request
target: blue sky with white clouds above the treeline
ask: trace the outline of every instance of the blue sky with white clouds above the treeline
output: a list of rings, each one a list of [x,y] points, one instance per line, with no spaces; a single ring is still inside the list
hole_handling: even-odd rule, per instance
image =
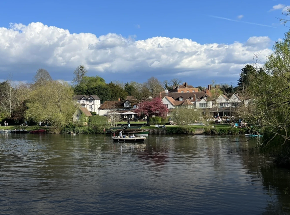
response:
[[[262,66],[289,30],[279,0],[10,0],[0,8],[0,79],[27,82],[38,68],[71,81],[83,64],[106,82],[236,85],[241,68],[256,54]]]

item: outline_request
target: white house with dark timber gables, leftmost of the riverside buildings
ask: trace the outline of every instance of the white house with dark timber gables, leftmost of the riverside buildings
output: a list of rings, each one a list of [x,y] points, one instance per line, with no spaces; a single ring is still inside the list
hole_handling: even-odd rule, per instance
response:
[[[101,106],[101,99],[98,95],[74,95],[73,99],[85,107],[89,112],[99,114],[99,107]]]

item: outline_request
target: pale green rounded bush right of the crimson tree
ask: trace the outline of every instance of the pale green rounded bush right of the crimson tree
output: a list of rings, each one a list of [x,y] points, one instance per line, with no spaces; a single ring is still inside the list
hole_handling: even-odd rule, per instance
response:
[[[201,112],[194,109],[180,109],[176,108],[172,110],[172,120],[177,125],[188,125],[195,123],[201,117]]]

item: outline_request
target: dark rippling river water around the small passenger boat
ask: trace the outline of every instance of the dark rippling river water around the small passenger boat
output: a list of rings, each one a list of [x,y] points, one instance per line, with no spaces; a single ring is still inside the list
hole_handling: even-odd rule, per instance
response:
[[[283,214],[289,170],[234,152],[256,144],[243,136],[114,144],[105,135],[0,134],[0,213]]]

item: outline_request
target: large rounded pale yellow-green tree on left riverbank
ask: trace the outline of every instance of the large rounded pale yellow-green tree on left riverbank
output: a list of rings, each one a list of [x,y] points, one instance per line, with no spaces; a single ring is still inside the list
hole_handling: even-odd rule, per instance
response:
[[[72,96],[72,88],[67,82],[46,82],[30,92],[25,116],[34,122],[49,121],[61,131],[76,110]]]

